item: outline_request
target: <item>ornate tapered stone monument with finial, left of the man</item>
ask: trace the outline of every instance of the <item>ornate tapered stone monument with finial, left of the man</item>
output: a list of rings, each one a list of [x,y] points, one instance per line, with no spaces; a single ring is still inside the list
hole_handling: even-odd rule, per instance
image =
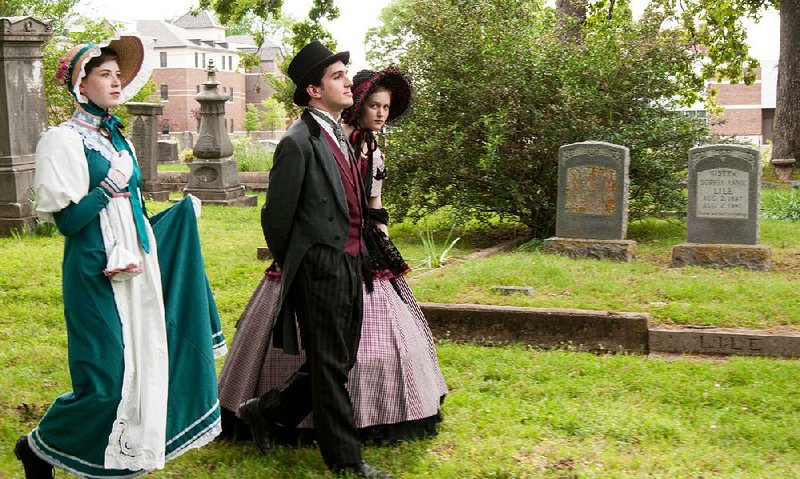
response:
[[[214,61],[208,63],[208,80],[195,96],[200,103],[200,133],[194,145],[195,160],[189,164],[189,183],[184,195],[192,194],[203,203],[227,206],[256,206],[255,196],[246,196],[239,182],[233,145],[225,130],[225,102],[219,91]]]

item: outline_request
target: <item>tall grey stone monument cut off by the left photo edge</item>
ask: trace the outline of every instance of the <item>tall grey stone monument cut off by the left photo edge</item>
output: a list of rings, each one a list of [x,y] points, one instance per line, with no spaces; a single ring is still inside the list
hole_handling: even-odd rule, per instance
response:
[[[42,45],[52,31],[31,17],[0,18],[0,236],[36,225],[34,153],[47,128]]]

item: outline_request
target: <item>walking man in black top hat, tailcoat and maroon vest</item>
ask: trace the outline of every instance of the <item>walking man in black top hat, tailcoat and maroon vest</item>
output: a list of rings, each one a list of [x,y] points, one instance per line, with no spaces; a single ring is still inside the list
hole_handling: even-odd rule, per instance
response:
[[[298,353],[299,324],[306,361],[286,383],[243,403],[239,416],[266,454],[278,426],[293,428],[313,412],[320,452],[332,471],[388,478],[361,458],[345,388],[361,336],[367,211],[339,124],[342,110],[353,104],[349,59],[349,52],[334,54],[314,41],[289,64],[294,102],[306,109],[275,150],[261,226],[282,275],[273,342]]]

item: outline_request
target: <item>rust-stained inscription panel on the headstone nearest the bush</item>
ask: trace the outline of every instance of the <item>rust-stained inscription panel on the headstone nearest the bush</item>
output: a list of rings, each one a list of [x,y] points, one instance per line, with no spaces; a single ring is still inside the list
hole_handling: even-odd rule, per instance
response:
[[[582,215],[613,215],[617,209],[616,172],[602,166],[577,166],[567,170],[565,209]]]

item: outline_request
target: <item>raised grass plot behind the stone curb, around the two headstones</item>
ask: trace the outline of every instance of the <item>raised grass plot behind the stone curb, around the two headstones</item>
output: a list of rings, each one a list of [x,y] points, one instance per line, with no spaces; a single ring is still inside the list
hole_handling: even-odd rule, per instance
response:
[[[696,324],[800,331],[800,223],[762,221],[773,270],[671,267],[683,224],[633,223],[631,263],[574,260],[516,251],[449,266],[413,283],[421,301],[648,312],[654,324]],[[493,285],[532,286],[534,296],[500,296]]]

